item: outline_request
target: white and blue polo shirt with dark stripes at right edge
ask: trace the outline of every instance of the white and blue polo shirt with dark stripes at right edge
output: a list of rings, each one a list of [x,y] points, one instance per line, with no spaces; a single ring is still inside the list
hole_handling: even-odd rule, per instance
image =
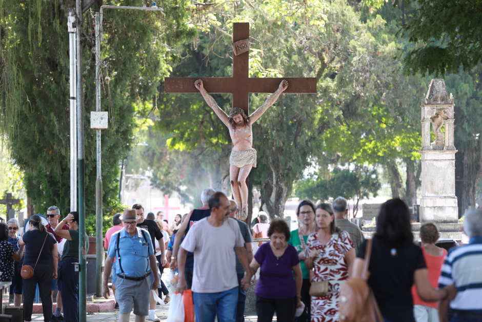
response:
[[[438,288],[453,283],[457,287],[457,296],[450,302],[450,307],[482,313],[482,236],[471,237],[468,245],[449,251]]]

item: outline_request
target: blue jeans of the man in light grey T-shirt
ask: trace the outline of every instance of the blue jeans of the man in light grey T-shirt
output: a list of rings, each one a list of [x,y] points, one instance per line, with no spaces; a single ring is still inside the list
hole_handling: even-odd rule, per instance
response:
[[[218,322],[234,322],[237,296],[238,287],[219,293],[192,292],[196,321],[214,322],[217,313]]]

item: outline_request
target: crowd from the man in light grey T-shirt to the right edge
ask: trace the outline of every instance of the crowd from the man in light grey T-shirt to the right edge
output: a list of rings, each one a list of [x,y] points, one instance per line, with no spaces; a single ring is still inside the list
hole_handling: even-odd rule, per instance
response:
[[[180,220],[168,245],[170,268],[179,272],[177,291],[192,290],[198,320],[214,321],[217,315],[218,321],[243,321],[248,280],[259,270],[258,321],[271,321],[274,314],[277,321],[342,321],[340,289],[350,278],[362,277],[367,252],[362,231],[347,219],[345,198],[317,205],[303,200],[296,210],[299,227],[291,232],[284,219],[268,223],[258,214],[252,237],[269,242],[253,254],[250,234],[231,219],[235,201],[212,191],[208,198],[209,193],[203,192],[202,208]],[[449,305],[453,321],[480,320],[482,210],[466,214],[469,244],[448,255],[435,245],[434,223],[421,225],[418,247],[410,218],[397,198],[385,202],[377,217],[367,283],[383,320],[444,322]]]

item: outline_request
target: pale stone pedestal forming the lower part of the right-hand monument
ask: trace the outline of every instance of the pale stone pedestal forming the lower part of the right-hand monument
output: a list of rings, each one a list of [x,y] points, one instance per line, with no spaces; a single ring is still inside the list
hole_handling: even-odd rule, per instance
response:
[[[457,222],[455,153],[457,150],[420,151],[420,222]]]

